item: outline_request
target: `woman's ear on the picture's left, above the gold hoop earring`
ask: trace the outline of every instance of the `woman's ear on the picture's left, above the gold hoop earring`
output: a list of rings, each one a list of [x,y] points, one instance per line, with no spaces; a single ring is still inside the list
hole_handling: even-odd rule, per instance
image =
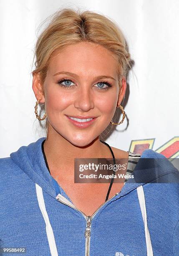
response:
[[[35,97],[36,97],[37,100],[40,100],[39,103],[45,103],[43,84],[40,80],[40,74],[39,74],[39,72],[38,73],[32,73],[32,74],[33,74],[32,88],[33,88],[33,92],[35,94]]]

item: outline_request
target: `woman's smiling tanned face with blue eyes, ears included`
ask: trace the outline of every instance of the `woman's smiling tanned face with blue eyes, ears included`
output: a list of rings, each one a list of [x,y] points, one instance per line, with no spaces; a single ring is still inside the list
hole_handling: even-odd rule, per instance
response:
[[[45,103],[50,134],[58,133],[76,146],[88,145],[106,129],[126,90],[123,79],[119,94],[117,61],[111,51],[87,42],[67,46],[53,57],[42,85],[44,95],[33,78],[35,96]],[[69,118],[75,116],[93,120]]]

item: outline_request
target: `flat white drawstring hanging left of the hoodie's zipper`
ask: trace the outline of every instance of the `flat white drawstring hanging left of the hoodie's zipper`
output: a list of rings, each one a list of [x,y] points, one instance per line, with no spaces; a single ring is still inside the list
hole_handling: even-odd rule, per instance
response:
[[[50,253],[52,256],[58,256],[58,252],[57,252],[57,247],[55,244],[55,238],[53,235],[53,229],[50,225],[50,221],[48,218],[48,214],[45,208],[45,202],[44,202],[44,198],[43,198],[43,191],[42,188],[35,183],[35,187],[36,187],[36,194],[37,194],[37,199],[38,199],[38,205],[40,207],[40,211],[42,212],[43,218],[45,220],[45,224],[46,224],[46,233],[47,233],[47,239],[48,239],[48,244],[50,247]]]

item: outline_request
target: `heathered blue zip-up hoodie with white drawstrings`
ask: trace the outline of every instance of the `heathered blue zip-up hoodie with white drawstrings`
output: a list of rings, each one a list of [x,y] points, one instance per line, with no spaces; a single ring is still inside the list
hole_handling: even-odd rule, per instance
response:
[[[134,179],[91,218],[54,186],[44,139],[0,159],[1,248],[26,248],[27,256],[179,256],[179,171],[168,159],[144,150]]]

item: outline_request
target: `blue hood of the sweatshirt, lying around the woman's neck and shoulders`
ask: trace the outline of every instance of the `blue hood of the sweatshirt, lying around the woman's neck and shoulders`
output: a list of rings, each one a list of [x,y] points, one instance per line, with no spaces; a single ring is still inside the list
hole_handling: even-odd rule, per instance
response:
[[[21,146],[18,151],[10,154],[10,158],[45,192],[52,197],[56,197],[53,179],[48,172],[41,148],[42,142],[45,139],[46,137],[42,137],[28,146]],[[138,164],[134,168],[132,173],[134,178],[128,179],[121,189],[120,195],[126,194],[148,182],[179,183],[179,175],[176,175],[176,180],[176,177],[167,176],[170,173],[179,174],[178,170],[165,156],[152,149],[146,149],[141,154]]]

